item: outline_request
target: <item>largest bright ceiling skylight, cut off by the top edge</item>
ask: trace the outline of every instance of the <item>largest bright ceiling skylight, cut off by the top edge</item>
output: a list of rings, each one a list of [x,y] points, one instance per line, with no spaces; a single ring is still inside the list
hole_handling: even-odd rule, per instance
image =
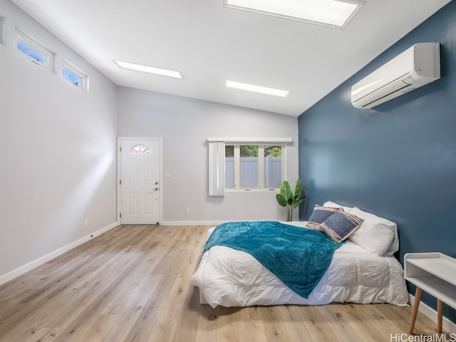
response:
[[[359,0],[224,0],[225,6],[343,28],[363,5]]]

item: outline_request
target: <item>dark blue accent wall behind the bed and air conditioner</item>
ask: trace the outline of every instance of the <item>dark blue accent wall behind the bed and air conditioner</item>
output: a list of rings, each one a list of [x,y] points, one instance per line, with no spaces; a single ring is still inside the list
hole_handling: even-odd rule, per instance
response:
[[[372,109],[351,105],[354,83],[428,41],[440,43],[440,80]],[[396,222],[401,262],[408,252],[456,257],[456,1],[299,116],[299,177],[301,220],[332,200]],[[456,322],[446,305],[444,315]]]

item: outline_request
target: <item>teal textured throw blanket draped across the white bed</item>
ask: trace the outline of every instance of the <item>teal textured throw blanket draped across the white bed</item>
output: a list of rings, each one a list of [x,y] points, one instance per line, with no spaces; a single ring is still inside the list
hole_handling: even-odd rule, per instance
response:
[[[204,252],[216,245],[251,254],[304,298],[309,297],[341,247],[322,232],[274,221],[220,224]]]

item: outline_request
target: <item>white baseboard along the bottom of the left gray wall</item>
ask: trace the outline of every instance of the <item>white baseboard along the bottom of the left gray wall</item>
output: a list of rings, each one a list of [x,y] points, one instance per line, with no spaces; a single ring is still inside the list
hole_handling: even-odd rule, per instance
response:
[[[86,237],[83,237],[82,239],[78,239],[78,241],[75,241],[71,244],[67,244],[65,247],[59,248],[56,251],[45,255],[44,257],[41,257],[39,259],[31,261],[30,263],[28,263],[24,266],[19,267],[19,269],[15,269],[14,271],[11,271],[7,274],[4,274],[3,276],[0,276],[0,285],[5,284],[6,282],[16,278],[16,276],[20,276],[21,274],[24,274],[24,273],[30,271],[31,269],[34,269],[35,267],[40,266],[40,265],[44,264],[45,262],[47,262],[55,257],[58,257],[59,255],[65,253],[65,252],[68,252],[69,250],[71,250],[75,247],[78,247],[80,244],[83,244],[84,242],[88,242],[88,240],[93,239],[94,237],[97,237],[98,235],[103,234],[104,232],[108,232],[108,230],[113,229],[114,227],[117,227],[117,226],[118,226],[118,222],[109,224],[108,226],[106,226],[92,234],[89,234]]]

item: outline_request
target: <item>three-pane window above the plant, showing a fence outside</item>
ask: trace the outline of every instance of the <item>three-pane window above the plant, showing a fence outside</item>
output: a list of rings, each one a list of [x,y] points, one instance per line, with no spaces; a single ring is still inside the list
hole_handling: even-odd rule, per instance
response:
[[[260,190],[280,187],[284,145],[225,145],[225,188]]]

